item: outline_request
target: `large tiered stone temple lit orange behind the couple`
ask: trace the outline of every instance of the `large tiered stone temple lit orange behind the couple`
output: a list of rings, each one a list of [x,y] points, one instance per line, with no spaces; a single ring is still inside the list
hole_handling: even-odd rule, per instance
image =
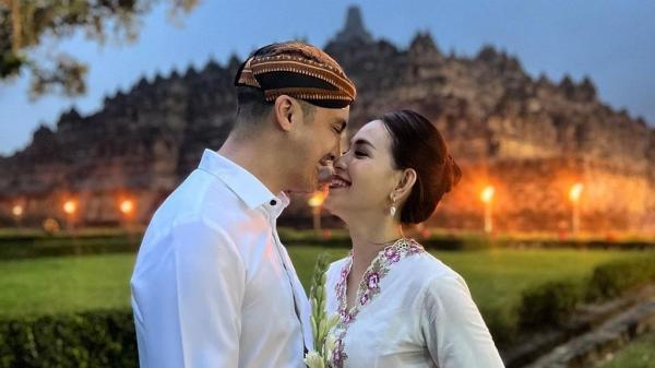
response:
[[[568,232],[569,190],[580,182],[581,230],[655,230],[655,130],[598,100],[588,78],[535,79],[491,46],[475,57],[444,54],[428,33],[401,49],[376,39],[357,8],[324,48],[358,85],[350,133],[384,111],[412,108],[449,142],[464,176],[429,225],[481,228],[480,191],[491,185],[496,229]],[[120,222],[126,198],[146,223],[203,149],[218,149],[229,133],[240,61],[142,79],[96,114],[71,109],[55,130],[40,127],[26,149],[0,157],[0,223],[16,219],[16,205],[25,224],[63,221],[71,198],[78,223]],[[284,221],[310,224],[306,203],[296,199]]]

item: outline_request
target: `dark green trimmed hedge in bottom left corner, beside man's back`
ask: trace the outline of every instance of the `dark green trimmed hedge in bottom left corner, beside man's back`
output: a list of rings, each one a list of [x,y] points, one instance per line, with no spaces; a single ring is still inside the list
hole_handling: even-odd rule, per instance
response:
[[[0,321],[0,368],[135,368],[138,360],[129,311]]]

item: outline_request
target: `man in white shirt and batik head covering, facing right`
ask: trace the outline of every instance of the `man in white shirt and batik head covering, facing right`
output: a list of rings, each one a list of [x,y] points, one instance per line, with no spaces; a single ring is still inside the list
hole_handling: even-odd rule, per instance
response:
[[[307,296],[275,224],[285,192],[315,190],[338,154],[355,86],[302,43],[257,50],[235,85],[234,130],[156,211],[139,251],[142,368],[305,367],[312,348]]]

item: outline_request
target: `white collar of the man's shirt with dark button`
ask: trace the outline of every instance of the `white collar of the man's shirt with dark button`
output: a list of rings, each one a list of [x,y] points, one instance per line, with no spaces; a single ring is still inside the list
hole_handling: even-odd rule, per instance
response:
[[[212,150],[204,151],[198,168],[225,182],[251,210],[265,204],[267,210],[279,214],[289,204],[289,199],[284,192],[276,197],[254,175]]]

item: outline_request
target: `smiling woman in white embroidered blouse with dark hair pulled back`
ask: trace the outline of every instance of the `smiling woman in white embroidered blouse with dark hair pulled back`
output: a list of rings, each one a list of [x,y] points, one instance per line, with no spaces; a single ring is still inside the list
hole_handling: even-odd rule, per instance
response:
[[[405,238],[460,180],[437,129],[410,110],[364,126],[335,163],[325,207],[348,226],[350,254],[327,271],[338,313],[333,367],[503,367],[464,280]]]

